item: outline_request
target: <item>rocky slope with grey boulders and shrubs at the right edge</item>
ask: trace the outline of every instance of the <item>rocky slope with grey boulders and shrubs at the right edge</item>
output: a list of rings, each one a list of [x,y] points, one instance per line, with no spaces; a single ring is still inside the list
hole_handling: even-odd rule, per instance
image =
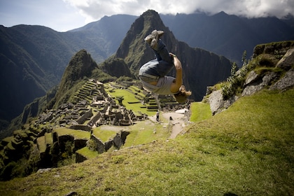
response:
[[[293,86],[294,41],[284,41],[255,46],[253,58],[248,64],[230,76],[228,83],[223,84],[220,90],[209,87],[207,96],[211,112],[216,114],[228,109],[241,96],[265,88],[283,91]]]

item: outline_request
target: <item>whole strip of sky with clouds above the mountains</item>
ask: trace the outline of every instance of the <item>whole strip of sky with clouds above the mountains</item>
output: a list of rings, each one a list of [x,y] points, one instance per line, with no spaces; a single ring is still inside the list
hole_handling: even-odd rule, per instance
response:
[[[162,3],[166,2],[166,3]],[[100,20],[105,15],[141,15],[152,9],[160,14],[224,11],[247,18],[294,13],[293,0],[0,0],[0,25],[42,25],[68,31]]]

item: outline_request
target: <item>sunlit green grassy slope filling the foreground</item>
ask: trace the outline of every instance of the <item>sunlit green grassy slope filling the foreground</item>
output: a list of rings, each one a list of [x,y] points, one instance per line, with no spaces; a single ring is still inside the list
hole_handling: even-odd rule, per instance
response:
[[[0,182],[0,195],[293,195],[293,98],[294,90],[242,97],[176,139]]]

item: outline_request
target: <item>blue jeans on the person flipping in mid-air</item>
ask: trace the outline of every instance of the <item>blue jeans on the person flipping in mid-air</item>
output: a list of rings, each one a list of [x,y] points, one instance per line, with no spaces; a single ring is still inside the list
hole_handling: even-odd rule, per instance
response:
[[[166,76],[174,67],[174,60],[169,55],[169,51],[165,43],[158,39],[158,47],[153,49],[156,59],[147,62],[141,66],[139,76],[144,76],[144,73],[151,76],[158,76],[158,78]]]

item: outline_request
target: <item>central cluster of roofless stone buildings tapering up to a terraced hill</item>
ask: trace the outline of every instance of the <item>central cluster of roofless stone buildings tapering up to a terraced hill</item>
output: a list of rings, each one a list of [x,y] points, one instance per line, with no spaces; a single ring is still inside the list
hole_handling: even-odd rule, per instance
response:
[[[84,97],[82,94],[84,94]],[[74,130],[89,131],[89,127],[101,125],[129,126],[133,125],[135,121],[148,118],[144,114],[136,116],[125,107],[118,106],[116,101],[105,92],[102,83],[96,82],[94,87],[89,87],[88,91],[82,90],[77,97],[78,102],[76,104],[66,103],[59,106],[57,110],[46,111],[39,116],[36,123],[55,123],[55,125],[61,127],[69,126]],[[94,115],[94,113],[96,114]],[[84,123],[87,120],[88,123],[85,126]]]

